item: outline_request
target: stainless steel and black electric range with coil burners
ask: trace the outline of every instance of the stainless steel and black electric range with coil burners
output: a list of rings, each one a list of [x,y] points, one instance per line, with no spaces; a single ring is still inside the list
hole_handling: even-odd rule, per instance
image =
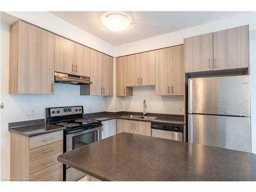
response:
[[[46,109],[46,122],[65,126],[63,153],[101,140],[101,121],[83,118],[83,106]],[[63,165],[63,180],[77,181],[86,174]]]

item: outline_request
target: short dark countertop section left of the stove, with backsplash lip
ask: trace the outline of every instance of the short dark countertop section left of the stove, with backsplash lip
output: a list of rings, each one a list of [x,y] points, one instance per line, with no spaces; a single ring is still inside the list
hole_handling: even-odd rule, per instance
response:
[[[9,123],[9,131],[26,137],[66,130],[66,127],[45,123],[45,119]]]

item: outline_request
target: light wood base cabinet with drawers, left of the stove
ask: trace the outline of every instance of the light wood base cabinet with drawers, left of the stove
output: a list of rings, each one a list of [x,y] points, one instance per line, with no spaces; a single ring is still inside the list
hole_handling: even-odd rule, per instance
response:
[[[26,137],[11,132],[10,177],[14,181],[62,181],[63,131]]]

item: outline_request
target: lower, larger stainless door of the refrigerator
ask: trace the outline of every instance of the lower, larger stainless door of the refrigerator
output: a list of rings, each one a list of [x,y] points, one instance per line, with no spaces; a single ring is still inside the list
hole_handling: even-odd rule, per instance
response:
[[[188,142],[251,152],[250,118],[188,115]]]

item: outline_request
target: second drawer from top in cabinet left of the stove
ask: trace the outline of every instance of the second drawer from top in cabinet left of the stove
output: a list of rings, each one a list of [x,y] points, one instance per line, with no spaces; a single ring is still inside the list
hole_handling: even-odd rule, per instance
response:
[[[34,161],[46,157],[48,155],[62,152],[63,151],[63,141],[58,141],[56,143],[51,143],[48,145],[40,146],[29,150],[29,161]]]

